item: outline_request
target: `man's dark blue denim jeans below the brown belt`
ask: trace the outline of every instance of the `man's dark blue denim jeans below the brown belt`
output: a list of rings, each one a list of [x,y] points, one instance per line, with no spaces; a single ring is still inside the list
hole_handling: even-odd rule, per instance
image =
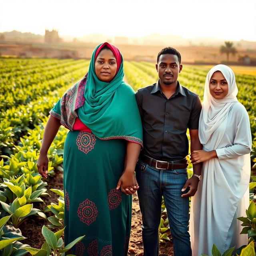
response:
[[[138,198],[142,213],[142,240],[144,256],[158,256],[158,227],[161,218],[162,195],[172,233],[174,255],[191,256],[188,233],[189,198],[181,197],[188,179],[187,170],[159,170],[138,160],[136,178],[140,188]]]

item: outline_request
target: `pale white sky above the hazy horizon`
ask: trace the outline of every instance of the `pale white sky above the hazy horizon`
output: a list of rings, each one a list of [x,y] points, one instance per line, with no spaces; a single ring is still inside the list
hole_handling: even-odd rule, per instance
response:
[[[256,0],[0,0],[0,32],[256,41]]]

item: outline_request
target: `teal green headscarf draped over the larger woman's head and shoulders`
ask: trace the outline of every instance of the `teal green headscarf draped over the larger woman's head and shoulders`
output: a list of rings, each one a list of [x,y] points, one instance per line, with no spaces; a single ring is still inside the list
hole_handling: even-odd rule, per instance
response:
[[[112,47],[116,48],[108,43],[100,44],[95,48],[92,54],[87,79],[83,79],[86,81],[84,88],[84,104],[76,109],[78,117],[92,130],[94,135],[102,140],[123,138],[142,145],[140,114],[133,89],[123,81],[124,68],[122,55],[120,54],[121,64],[118,72],[111,82],[102,82],[96,76],[96,52],[99,47],[102,48],[104,45],[110,46],[110,50],[112,50]],[[78,82],[75,86],[79,87],[80,84],[81,82]],[[66,92],[66,94],[67,93],[68,92]],[[72,95],[76,97],[77,93],[72,93]],[[73,107],[73,110],[68,110],[70,104],[64,102],[66,98],[67,97],[64,95],[62,100],[57,103],[59,106],[55,106],[50,114],[64,120],[65,118],[58,116],[58,114],[60,109],[61,112],[65,109],[68,115],[70,115],[71,112],[71,115],[77,116],[76,113],[72,113],[75,107]],[[73,102],[74,101],[76,101],[76,99],[73,99]],[[75,105],[76,104],[73,104],[72,106]],[[64,116],[65,114],[61,113],[61,115]],[[68,125],[64,124],[64,126],[69,128]]]

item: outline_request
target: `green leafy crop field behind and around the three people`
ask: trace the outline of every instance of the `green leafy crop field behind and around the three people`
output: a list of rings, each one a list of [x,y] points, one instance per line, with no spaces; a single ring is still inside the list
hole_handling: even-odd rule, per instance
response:
[[[50,204],[42,211],[38,208],[49,196],[47,182],[37,171],[40,142],[49,110],[74,82],[88,70],[87,60],[56,59],[0,59],[0,250],[4,256],[61,255],[79,243],[83,237],[64,247],[64,194],[58,194],[58,204]],[[126,81],[134,90],[156,82],[158,74],[154,64],[125,62]],[[203,97],[204,80],[208,70],[184,66],[179,81]],[[237,75],[238,98],[248,110],[253,135],[252,160],[256,158],[256,106],[254,76]],[[63,145],[67,130],[60,128],[48,152],[49,175],[62,170]],[[251,185],[253,189],[254,184]],[[253,196],[253,195],[252,195]],[[50,215],[49,215],[50,212]],[[163,205],[164,212],[164,205]],[[32,248],[20,240],[19,226],[32,215],[45,220],[42,248]],[[48,217],[47,217],[47,216]],[[50,216],[50,217],[49,217]],[[162,219],[160,239],[166,235],[168,221]],[[51,231],[55,228],[55,232]],[[56,231],[56,229],[58,231]]]

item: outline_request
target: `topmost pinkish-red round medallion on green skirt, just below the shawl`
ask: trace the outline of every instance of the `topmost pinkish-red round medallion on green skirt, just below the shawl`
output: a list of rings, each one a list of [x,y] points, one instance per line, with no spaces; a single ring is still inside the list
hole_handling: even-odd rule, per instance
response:
[[[78,149],[87,154],[94,149],[96,138],[94,134],[90,132],[79,132],[76,138],[76,145]]]

